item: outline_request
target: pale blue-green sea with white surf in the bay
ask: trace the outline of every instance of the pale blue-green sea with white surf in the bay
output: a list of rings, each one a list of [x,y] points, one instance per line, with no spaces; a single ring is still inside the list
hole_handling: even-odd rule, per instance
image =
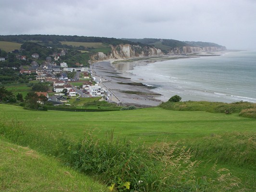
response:
[[[156,86],[167,101],[256,102],[256,51],[230,51],[221,56],[177,59],[138,65],[132,81]]]

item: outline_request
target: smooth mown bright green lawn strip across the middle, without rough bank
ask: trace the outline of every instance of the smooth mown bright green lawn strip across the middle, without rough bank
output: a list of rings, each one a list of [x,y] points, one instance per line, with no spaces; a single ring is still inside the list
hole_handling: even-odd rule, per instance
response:
[[[103,137],[106,131],[114,129],[115,137],[148,143],[164,139],[178,141],[201,138],[224,132],[256,131],[256,119],[239,117],[237,114],[179,112],[162,108],[93,113],[42,112],[0,104],[0,116],[21,120],[37,128],[65,130],[77,137],[81,137],[85,130],[94,129],[99,137]]]

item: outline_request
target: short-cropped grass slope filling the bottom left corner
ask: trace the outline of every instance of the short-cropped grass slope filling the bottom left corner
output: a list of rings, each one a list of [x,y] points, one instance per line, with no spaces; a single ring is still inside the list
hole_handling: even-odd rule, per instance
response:
[[[1,192],[101,192],[106,187],[89,177],[64,167],[54,157],[0,136]]]

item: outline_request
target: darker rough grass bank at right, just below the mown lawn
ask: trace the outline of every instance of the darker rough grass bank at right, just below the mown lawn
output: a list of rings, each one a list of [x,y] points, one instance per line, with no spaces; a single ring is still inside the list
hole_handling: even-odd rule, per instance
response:
[[[200,141],[187,143],[196,159],[218,161],[224,164],[256,167],[256,134],[232,132],[212,134]],[[256,170],[256,169],[255,169]]]

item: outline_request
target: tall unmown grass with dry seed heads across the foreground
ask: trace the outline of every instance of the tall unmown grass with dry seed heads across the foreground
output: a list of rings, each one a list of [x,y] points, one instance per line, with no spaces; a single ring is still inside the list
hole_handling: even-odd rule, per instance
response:
[[[86,132],[81,140],[74,141],[62,132],[29,128],[17,121],[0,122],[0,134],[20,145],[58,157],[65,165],[100,179],[110,191],[241,190],[239,179],[227,169],[213,169],[212,174],[196,176],[195,167],[199,162],[192,161],[191,150],[178,143],[136,145],[124,139],[115,140],[113,131],[101,140]]]

